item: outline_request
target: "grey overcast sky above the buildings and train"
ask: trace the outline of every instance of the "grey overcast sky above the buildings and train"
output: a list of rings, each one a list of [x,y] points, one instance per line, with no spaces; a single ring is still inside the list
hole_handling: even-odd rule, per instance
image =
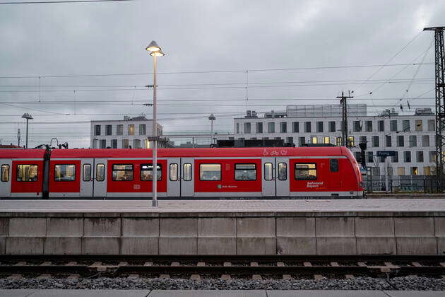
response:
[[[151,40],[167,54],[158,59],[166,133],[206,132],[210,113],[216,131],[233,132],[245,110],[335,104],[348,90],[372,115],[400,104],[413,113],[434,104],[434,34],[421,31],[444,16],[445,1],[431,0],[0,4],[0,139],[16,144],[20,128],[23,144],[23,112],[35,118],[30,146],[56,136],[88,147],[90,120],[151,118],[141,105],[153,98]],[[423,64],[391,66],[413,62]],[[301,69],[312,67],[334,68]]]

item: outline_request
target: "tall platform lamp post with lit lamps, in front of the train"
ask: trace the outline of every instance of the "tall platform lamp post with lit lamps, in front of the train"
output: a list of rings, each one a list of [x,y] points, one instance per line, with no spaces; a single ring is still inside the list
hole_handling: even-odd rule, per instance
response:
[[[158,206],[158,124],[157,124],[157,110],[156,110],[156,58],[162,57],[165,54],[162,52],[158,44],[153,40],[150,45],[146,47],[153,57],[153,199],[152,206]]]

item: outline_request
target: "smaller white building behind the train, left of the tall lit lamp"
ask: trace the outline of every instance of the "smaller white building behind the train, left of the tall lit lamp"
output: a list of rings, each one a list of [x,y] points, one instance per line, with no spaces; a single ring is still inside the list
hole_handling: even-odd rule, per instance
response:
[[[158,135],[162,126],[158,123]],[[153,136],[153,120],[124,116],[124,120],[91,121],[91,148],[150,148],[147,137]],[[158,144],[163,147],[162,142]]]

